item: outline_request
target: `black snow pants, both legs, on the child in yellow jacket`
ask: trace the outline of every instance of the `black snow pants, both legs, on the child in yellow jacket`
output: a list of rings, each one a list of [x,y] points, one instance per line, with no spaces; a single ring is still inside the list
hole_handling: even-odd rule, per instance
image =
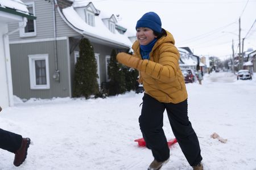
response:
[[[165,109],[185,158],[191,166],[197,165],[203,158],[197,135],[188,120],[187,100],[177,104],[161,103],[150,95],[144,94],[139,126],[147,147],[151,149],[158,162],[163,162],[170,157],[166,135],[162,129]]]

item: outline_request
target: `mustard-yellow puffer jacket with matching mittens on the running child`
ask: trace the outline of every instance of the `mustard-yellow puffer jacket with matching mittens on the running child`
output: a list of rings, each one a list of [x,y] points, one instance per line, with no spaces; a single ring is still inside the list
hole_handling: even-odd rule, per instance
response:
[[[180,54],[174,44],[174,37],[167,32],[166,37],[156,41],[150,52],[150,60],[142,59],[138,41],[132,47],[133,57],[119,53],[117,59],[139,70],[139,82],[143,83],[146,94],[160,102],[176,104],[187,99],[188,94],[179,67]]]

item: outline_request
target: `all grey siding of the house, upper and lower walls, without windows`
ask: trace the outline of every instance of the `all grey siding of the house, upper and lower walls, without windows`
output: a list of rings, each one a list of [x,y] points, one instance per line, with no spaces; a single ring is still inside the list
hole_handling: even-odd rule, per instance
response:
[[[24,3],[34,2],[36,18],[36,36],[20,37],[19,31],[10,35],[10,56],[11,70],[13,71],[13,94],[22,98],[30,99],[52,97],[72,97],[73,80],[75,71],[74,50],[79,51],[79,41],[83,36],[70,24],[64,22],[56,8],[56,42],[57,42],[57,66],[60,71],[60,81],[52,78],[55,73],[55,37],[54,37],[54,16],[53,5],[42,0],[23,0]],[[60,7],[69,6],[69,1],[58,1]],[[18,24],[9,24],[9,31],[13,31]],[[94,47],[94,53],[99,54],[100,84],[106,82],[106,56],[109,56],[113,49],[117,52],[126,49],[123,46],[109,41],[97,39],[86,35]],[[30,87],[30,66],[28,55],[48,54],[49,63],[49,89],[31,90]]]

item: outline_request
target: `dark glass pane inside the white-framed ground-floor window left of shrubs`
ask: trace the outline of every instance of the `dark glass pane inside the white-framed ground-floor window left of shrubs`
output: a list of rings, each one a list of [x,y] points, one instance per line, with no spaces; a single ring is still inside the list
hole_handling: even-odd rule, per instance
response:
[[[46,84],[46,60],[35,61],[36,85]]]

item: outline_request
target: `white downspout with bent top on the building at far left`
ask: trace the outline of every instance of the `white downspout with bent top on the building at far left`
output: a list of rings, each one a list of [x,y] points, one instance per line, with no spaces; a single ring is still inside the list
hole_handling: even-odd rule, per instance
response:
[[[27,25],[27,18],[23,17],[23,21],[20,22],[20,26],[16,29],[14,29],[11,32],[7,32],[3,35],[3,55],[5,56],[5,74],[6,74],[6,84],[7,84],[7,94],[8,94],[8,101],[9,101],[9,106],[13,106],[13,100],[11,100],[11,96],[13,96],[13,83],[11,79],[11,75],[9,75],[9,66],[7,65],[7,62],[9,61],[10,58],[10,49],[9,46],[6,46],[5,44],[9,45],[9,35],[13,34],[16,31],[19,31],[19,29],[23,29]],[[6,43],[5,43],[6,42]]]

